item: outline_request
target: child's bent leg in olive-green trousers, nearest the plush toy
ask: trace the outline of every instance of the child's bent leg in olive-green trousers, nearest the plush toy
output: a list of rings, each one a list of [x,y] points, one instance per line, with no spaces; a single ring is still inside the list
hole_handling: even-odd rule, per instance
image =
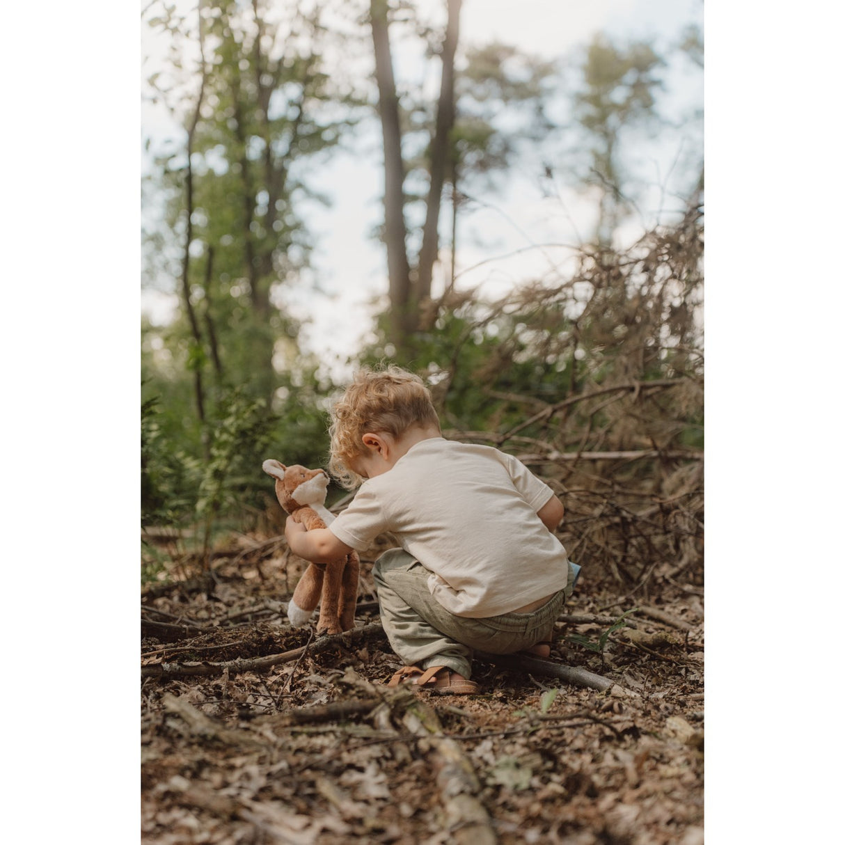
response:
[[[449,612],[428,590],[430,573],[401,548],[385,552],[373,566],[384,633],[406,665],[448,666],[469,678],[472,649],[442,633],[439,617]]]

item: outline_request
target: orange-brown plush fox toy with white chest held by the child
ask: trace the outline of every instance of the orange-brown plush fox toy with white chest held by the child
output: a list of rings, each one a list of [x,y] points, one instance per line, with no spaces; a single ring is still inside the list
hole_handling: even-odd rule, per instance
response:
[[[311,531],[325,528],[335,519],[324,506],[329,487],[324,470],[285,466],[273,460],[264,461],[261,468],[275,478],[275,498],[292,520]],[[293,627],[308,624],[319,602],[318,634],[340,634],[354,628],[360,567],[354,551],[329,564],[309,564],[287,606]]]

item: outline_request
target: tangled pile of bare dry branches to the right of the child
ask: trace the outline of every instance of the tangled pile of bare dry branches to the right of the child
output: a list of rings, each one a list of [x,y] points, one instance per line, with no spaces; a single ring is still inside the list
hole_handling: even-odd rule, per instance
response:
[[[656,574],[701,586],[702,254],[693,207],[624,252],[582,249],[563,281],[558,272],[486,308],[465,303],[463,341],[496,326],[493,354],[471,373],[491,409],[482,431],[448,412],[460,353],[441,373],[446,436],[531,466],[564,501],[570,558],[629,595]]]

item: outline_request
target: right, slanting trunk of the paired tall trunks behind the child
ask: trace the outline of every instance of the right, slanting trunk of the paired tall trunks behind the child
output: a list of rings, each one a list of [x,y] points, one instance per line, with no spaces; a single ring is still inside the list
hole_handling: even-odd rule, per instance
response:
[[[417,291],[414,299],[422,303],[431,296],[431,278],[437,260],[438,223],[446,168],[450,156],[450,134],[455,124],[455,50],[461,17],[461,0],[448,0],[449,18],[443,41],[443,75],[440,77],[440,96],[431,144],[430,181],[426,203],[423,246],[417,265]]]

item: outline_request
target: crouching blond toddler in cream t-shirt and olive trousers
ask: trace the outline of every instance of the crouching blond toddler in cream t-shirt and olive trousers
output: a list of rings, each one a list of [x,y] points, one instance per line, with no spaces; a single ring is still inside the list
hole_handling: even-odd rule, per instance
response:
[[[293,553],[325,563],[391,532],[401,548],[373,566],[384,631],[410,680],[477,692],[472,650],[548,657],[575,568],[552,531],[564,506],[511,455],[446,440],[418,376],[357,373],[332,411],[330,471],[361,483],[329,528],[288,520]]]

